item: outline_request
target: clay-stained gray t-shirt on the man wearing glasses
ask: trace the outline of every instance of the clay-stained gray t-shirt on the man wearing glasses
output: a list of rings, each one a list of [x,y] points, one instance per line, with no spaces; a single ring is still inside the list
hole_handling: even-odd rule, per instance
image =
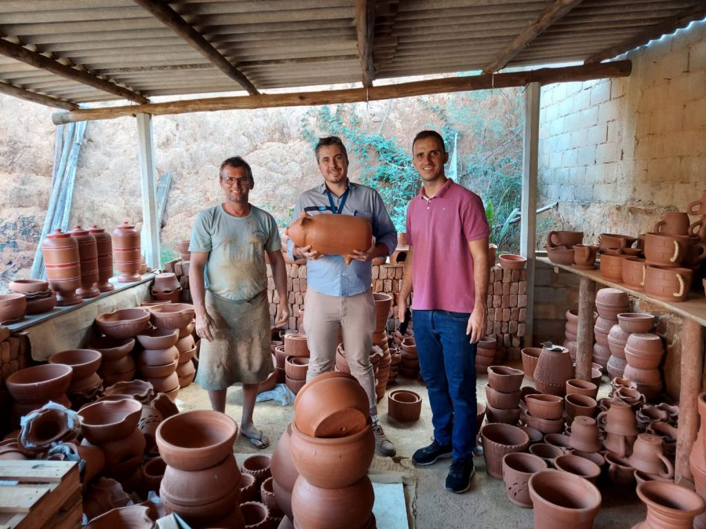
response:
[[[265,251],[282,249],[272,215],[251,205],[246,217],[233,217],[222,205],[198,214],[190,252],[209,252],[205,288],[233,301],[253,298],[267,288]]]

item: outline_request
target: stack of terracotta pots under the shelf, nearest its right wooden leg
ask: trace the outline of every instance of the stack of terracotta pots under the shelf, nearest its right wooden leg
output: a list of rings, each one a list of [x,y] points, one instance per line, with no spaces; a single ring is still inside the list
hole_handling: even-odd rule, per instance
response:
[[[626,378],[638,384],[638,390],[647,401],[657,398],[662,391],[659,364],[664,355],[662,339],[650,332],[635,332],[628,336],[625,346]]]

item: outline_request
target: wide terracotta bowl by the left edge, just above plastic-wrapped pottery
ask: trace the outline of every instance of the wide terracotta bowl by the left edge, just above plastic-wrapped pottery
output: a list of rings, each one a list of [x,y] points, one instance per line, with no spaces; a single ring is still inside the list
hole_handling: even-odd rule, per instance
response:
[[[14,372],[5,385],[16,401],[38,403],[66,393],[72,377],[70,365],[42,364]]]

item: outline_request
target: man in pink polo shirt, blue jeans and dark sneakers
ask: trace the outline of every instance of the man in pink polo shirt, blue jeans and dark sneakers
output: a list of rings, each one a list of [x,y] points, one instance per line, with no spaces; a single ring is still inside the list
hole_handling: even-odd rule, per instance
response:
[[[434,434],[412,461],[453,457],[445,486],[461,493],[475,472],[475,357],[486,325],[489,227],[480,197],[446,178],[447,161],[441,135],[417,134],[412,162],[424,187],[407,207],[409,253],[397,310],[403,321],[414,290],[414,338]]]

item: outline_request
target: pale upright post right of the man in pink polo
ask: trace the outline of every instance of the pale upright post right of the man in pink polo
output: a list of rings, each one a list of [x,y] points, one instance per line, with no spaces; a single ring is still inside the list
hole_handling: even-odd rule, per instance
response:
[[[537,167],[539,166],[539,95],[542,85],[525,88],[525,138],[522,144],[520,253],[527,257],[527,318],[525,347],[532,346],[534,320],[534,250],[537,248]]]

